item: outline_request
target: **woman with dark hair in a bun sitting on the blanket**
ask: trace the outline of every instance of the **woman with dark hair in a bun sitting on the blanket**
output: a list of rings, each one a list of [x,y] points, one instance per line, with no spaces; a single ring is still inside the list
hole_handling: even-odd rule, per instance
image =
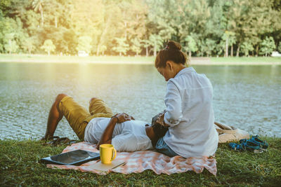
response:
[[[169,41],[155,59],[157,71],[167,81],[166,112],[157,122],[169,126],[155,148],[170,157],[214,155],[218,134],[214,127],[213,88],[207,76],[185,67],[186,62],[181,45],[175,41]]]

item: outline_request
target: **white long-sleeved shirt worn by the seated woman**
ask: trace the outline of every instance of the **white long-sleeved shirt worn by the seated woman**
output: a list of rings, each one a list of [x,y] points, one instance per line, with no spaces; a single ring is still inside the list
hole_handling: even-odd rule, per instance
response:
[[[167,82],[164,122],[166,144],[185,158],[213,155],[218,147],[209,78],[195,69],[182,69]]]

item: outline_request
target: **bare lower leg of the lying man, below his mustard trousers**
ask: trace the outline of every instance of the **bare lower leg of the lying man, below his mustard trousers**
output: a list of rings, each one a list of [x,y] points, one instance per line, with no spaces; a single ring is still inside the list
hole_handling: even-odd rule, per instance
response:
[[[51,139],[53,137],[53,134],[55,133],[55,129],[58,126],[58,123],[63,118],[63,112],[60,111],[58,105],[60,104],[61,99],[63,99],[63,97],[65,96],[67,95],[59,94],[55,98],[55,102],[53,102],[53,105],[51,106],[50,112],[48,113],[46,134],[45,137],[43,137],[44,140]]]

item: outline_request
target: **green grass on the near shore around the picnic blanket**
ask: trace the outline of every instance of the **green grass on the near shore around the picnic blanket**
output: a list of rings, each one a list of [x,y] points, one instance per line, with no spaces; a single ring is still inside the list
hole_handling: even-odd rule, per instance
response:
[[[66,146],[42,146],[40,141],[0,140],[0,186],[280,186],[281,138],[263,137],[267,152],[231,151],[219,144],[217,176],[201,174],[157,175],[110,173],[105,176],[75,170],[48,169],[40,158],[61,153]]]

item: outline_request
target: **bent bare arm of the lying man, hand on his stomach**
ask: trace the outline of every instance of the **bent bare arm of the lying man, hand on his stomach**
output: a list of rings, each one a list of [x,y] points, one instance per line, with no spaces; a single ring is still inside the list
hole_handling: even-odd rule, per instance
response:
[[[107,127],[105,128],[103,135],[100,137],[100,141],[98,141],[97,148],[99,149],[101,144],[111,144],[112,134],[113,134],[113,130],[115,129],[116,123],[122,123],[126,120],[131,120],[131,119],[134,119],[134,118],[129,116],[126,113],[115,114],[115,116],[113,116],[110,119],[110,122],[108,123]]]

